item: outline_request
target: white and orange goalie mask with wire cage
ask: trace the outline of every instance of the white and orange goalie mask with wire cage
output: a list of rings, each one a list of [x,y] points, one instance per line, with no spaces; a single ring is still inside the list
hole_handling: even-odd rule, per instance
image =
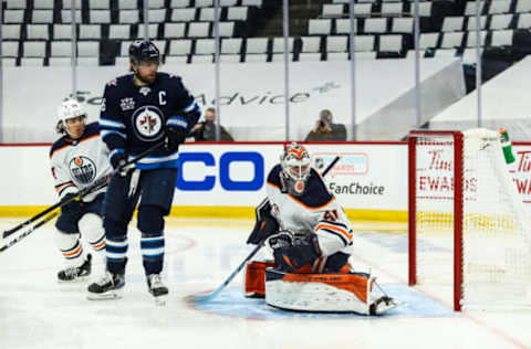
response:
[[[306,148],[296,142],[285,146],[280,165],[282,166],[282,191],[292,195],[302,195],[310,177],[310,155]]]

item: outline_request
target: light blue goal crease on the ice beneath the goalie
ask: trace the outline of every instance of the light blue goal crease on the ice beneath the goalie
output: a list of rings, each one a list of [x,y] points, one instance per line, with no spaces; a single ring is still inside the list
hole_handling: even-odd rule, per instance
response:
[[[451,309],[442,306],[421,293],[400,284],[384,284],[383,288],[398,299],[398,307],[388,310],[381,316],[368,317],[355,313],[301,313],[273,308],[266,304],[264,299],[246,298],[240,287],[229,287],[221,292],[210,302],[188,302],[195,309],[240,317],[247,319],[275,320],[281,318],[319,318],[319,319],[342,319],[342,318],[379,318],[379,317],[448,317],[456,316]],[[375,293],[377,295],[377,293]]]

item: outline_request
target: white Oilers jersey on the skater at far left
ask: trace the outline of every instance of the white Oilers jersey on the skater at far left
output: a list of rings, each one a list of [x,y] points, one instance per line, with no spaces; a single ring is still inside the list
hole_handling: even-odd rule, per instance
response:
[[[55,141],[50,150],[52,176],[60,199],[88,187],[95,179],[110,171],[107,148],[100,139],[97,123],[86,125],[80,139],[67,136]],[[105,191],[105,188],[87,194],[83,201],[90,202]]]

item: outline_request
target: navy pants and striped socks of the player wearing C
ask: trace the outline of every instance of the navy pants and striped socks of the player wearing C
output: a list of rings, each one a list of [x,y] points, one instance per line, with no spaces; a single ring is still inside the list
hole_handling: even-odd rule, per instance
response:
[[[177,169],[143,170],[136,190],[129,193],[133,172],[113,177],[105,195],[107,269],[114,274],[125,273],[127,225],[139,201],[137,228],[142,233],[144,269],[146,275],[159,274],[164,263],[164,216],[171,209]]]

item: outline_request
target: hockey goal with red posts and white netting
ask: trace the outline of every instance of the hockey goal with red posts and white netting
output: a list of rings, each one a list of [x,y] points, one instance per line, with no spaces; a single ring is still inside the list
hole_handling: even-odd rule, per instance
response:
[[[409,135],[409,284],[462,308],[531,304],[531,224],[497,131]]]

